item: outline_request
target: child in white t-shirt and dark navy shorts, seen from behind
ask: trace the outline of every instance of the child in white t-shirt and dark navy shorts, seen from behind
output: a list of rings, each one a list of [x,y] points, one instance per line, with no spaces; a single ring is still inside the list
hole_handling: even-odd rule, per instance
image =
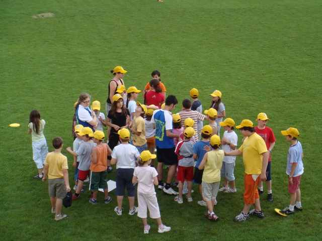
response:
[[[122,202],[125,195],[125,188],[127,189],[127,196],[129,199],[130,211],[133,215],[137,212],[137,207],[134,206],[134,198],[136,193],[135,184],[132,183],[133,172],[135,168],[135,161],[139,159],[139,151],[135,146],[129,144],[130,132],[123,128],[117,132],[120,136],[121,144],[116,146],[112,152],[111,164],[116,164],[116,191],[117,206],[114,211],[117,215],[122,215]]]

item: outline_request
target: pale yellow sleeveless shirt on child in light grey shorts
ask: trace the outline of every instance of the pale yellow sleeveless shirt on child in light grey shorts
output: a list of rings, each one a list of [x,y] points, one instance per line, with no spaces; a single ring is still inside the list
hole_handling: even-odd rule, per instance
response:
[[[202,174],[202,181],[206,183],[220,182],[220,169],[225,156],[224,151],[207,152],[208,158]]]

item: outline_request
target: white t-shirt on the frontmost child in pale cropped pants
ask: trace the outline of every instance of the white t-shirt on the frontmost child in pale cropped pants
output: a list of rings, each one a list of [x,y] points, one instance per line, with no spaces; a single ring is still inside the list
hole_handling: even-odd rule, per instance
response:
[[[136,176],[139,183],[137,191],[144,194],[155,194],[153,186],[153,178],[157,176],[157,172],[153,167],[136,167],[133,176]]]

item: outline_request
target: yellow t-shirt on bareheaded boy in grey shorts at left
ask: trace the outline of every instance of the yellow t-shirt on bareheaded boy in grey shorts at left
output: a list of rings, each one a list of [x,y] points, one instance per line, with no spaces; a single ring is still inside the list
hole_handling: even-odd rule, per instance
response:
[[[58,152],[50,152],[44,163],[48,166],[48,179],[62,178],[62,170],[68,169],[67,157]]]

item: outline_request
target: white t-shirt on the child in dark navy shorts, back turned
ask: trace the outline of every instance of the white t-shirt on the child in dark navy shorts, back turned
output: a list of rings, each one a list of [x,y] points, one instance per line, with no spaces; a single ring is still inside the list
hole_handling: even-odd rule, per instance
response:
[[[116,169],[118,168],[135,168],[135,161],[140,156],[139,151],[135,146],[130,144],[120,144],[114,147],[112,158],[117,159]]]

